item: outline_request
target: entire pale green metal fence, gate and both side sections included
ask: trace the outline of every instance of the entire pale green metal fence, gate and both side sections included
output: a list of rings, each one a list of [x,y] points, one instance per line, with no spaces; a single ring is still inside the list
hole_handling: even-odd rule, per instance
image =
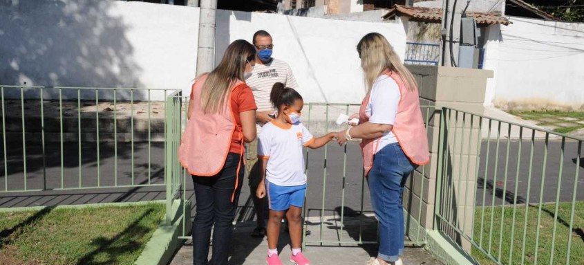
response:
[[[165,185],[173,221],[175,201],[190,212],[177,156],[187,102],[167,89],[0,86],[0,193]],[[357,109],[311,103],[306,124],[315,135],[337,131],[329,120]],[[431,227],[422,220],[430,218],[431,229],[481,263],[584,264],[583,139],[458,109],[423,106],[422,114],[437,158],[413,172],[404,192],[406,220],[417,221],[408,244],[426,244]],[[305,228],[317,220],[319,231],[304,244],[375,244],[360,150],[334,146],[306,151],[307,201],[319,207],[304,208]],[[182,218],[180,238],[188,239],[190,214]],[[325,226],[339,236],[323,237]]]

